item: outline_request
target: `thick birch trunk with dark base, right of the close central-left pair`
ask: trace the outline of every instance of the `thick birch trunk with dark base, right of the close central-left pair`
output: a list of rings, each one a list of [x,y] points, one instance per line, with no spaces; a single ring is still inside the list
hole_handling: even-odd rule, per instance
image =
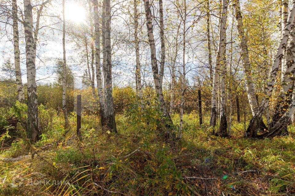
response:
[[[105,100],[105,126],[108,130],[117,133],[114,102],[112,96],[112,61],[111,61],[111,2],[105,0],[105,75],[106,75],[106,100]]]

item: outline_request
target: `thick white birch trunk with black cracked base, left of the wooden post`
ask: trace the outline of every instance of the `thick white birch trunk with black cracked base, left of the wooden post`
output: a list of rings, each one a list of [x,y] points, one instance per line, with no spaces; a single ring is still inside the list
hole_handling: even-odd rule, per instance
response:
[[[36,84],[36,67],[35,67],[35,48],[33,38],[33,15],[30,0],[24,0],[24,28],[26,40],[26,67],[27,67],[27,94],[28,94],[28,121],[27,134],[30,141],[35,142],[40,139],[42,134],[37,104],[37,84]]]

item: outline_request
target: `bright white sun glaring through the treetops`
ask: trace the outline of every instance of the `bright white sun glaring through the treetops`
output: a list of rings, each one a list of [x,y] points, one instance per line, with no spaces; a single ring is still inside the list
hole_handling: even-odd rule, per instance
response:
[[[84,7],[75,2],[67,3],[65,6],[65,18],[77,24],[84,23],[86,18]]]

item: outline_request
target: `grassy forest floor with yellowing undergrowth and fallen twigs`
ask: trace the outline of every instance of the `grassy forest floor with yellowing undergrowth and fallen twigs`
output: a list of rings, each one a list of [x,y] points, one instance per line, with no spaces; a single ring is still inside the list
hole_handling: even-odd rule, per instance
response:
[[[254,140],[234,123],[232,137],[219,138],[190,114],[182,141],[170,145],[149,131],[153,123],[124,115],[116,116],[119,134],[102,133],[99,119],[84,115],[80,142],[61,119],[33,146],[18,138],[2,147],[0,195],[295,195],[293,126],[289,136]]]

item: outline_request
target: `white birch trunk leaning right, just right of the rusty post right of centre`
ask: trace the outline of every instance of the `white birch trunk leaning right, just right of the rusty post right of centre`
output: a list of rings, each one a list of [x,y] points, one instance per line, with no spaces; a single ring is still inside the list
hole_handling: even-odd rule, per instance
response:
[[[219,26],[219,43],[218,49],[216,52],[214,74],[213,74],[213,83],[212,83],[212,97],[211,97],[211,114],[210,114],[210,126],[214,127],[216,125],[217,118],[217,107],[218,107],[218,80],[219,80],[219,70],[220,64],[223,59],[225,51],[225,35],[226,35],[226,13],[227,13],[228,2],[222,0],[222,12],[221,12],[221,21]],[[213,129],[214,133],[214,129]]]

